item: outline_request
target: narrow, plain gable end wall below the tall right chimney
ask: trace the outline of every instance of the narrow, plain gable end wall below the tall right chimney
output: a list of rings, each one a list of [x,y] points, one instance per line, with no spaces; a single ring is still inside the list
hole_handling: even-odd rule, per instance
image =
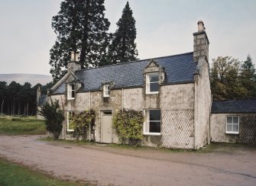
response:
[[[209,114],[211,107],[211,89],[209,82],[209,64],[200,58],[198,72],[195,75],[195,149],[209,143]]]

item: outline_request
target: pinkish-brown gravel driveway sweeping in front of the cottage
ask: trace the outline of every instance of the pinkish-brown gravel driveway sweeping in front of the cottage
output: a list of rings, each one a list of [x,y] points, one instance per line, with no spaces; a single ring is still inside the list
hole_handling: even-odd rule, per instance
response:
[[[59,178],[98,185],[256,185],[256,148],[165,152],[77,146],[40,137],[0,136],[0,156]]]

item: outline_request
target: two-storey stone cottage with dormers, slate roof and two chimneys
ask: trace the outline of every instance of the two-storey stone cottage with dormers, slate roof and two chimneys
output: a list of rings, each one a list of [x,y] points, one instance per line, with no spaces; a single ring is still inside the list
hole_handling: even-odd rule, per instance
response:
[[[209,143],[211,91],[209,40],[203,21],[193,33],[193,52],[81,69],[76,53],[48,99],[65,111],[61,139],[71,139],[69,116],[93,109],[90,127],[99,143],[118,143],[112,117],[123,108],[144,111],[143,146],[198,149]]]

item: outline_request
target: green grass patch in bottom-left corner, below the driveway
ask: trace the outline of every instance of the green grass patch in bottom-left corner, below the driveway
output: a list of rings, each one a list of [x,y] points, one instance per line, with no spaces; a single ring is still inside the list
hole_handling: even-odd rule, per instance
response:
[[[3,186],[22,186],[22,185],[88,185],[76,182],[61,181],[57,178],[51,178],[40,172],[31,171],[24,166],[0,159],[0,185]]]

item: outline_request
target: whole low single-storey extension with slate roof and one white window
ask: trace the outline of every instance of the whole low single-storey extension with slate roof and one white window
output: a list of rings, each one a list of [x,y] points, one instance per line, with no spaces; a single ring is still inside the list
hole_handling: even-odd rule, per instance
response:
[[[256,98],[212,101],[212,142],[256,144]]]

